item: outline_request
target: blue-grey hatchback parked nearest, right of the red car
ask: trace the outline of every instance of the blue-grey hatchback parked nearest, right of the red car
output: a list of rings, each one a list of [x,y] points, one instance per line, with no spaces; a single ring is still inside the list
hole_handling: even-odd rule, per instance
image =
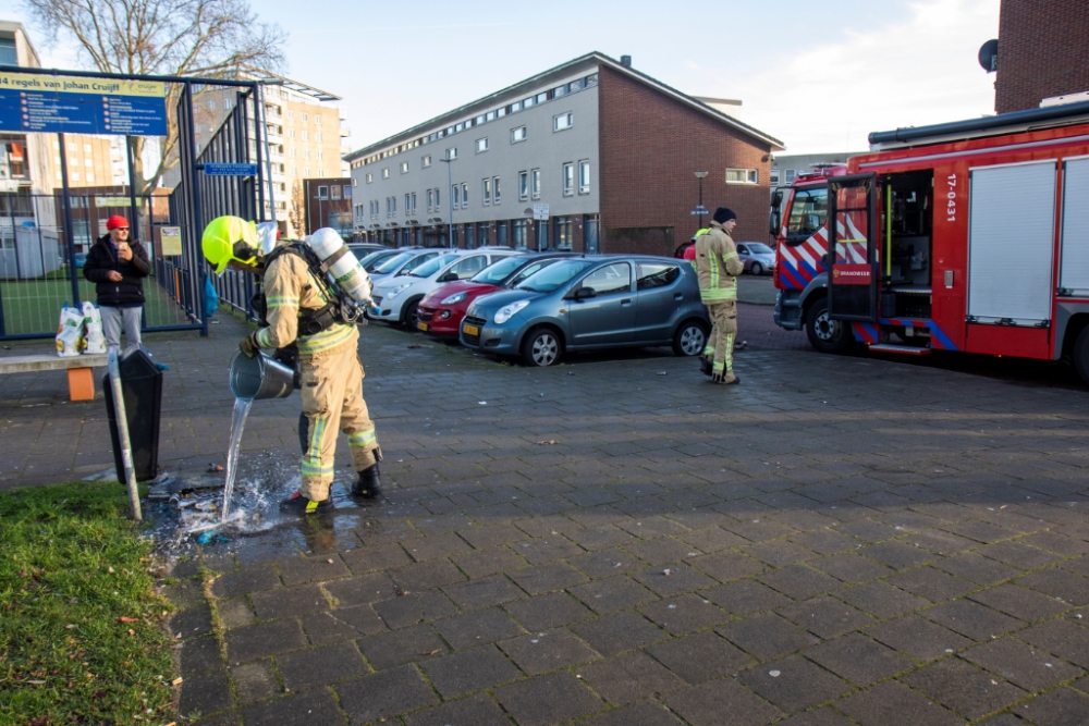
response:
[[[671,345],[703,350],[711,329],[696,271],[668,257],[595,255],[562,259],[513,290],[484,295],[462,320],[462,345],[527,366],[568,350]]]

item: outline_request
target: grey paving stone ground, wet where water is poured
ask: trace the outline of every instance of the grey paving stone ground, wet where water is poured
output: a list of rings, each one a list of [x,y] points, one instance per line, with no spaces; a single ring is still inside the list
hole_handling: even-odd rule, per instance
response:
[[[668,350],[529,370],[365,330],[388,499],[359,507],[339,483],[333,514],[178,564],[181,713],[1089,722],[1089,392],[1048,366],[761,345],[768,316],[743,308],[754,342],[731,387]],[[149,341],[173,367],[167,466],[222,459],[241,335],[225,320]],[[101,402],[59,403],[62,378],[10,383],[3,485],[108,465]],[[297,405],[255,404],[252,467],[297,455]]]

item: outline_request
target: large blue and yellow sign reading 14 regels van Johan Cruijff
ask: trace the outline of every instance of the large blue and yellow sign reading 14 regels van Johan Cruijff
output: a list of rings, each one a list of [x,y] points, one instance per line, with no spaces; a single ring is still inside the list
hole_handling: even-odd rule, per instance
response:
[[[0,73],[0,131],[166,136],[166,86]]]

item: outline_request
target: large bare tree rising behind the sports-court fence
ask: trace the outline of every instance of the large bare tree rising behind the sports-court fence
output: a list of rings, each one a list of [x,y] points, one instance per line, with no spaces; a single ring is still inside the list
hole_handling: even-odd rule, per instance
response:
[[[52,42],[74,38],[81,56],[103,73],[225,77],[241,65],[278,70],[284,30],[260,23],[247,0],[23,0]],[[199,89],[204,90],[204,89]],[[137,184],[149,194],[178,163],[180,84],[168,85],[168,135],[157,167],[145,170],[146,139],[136,137]]]

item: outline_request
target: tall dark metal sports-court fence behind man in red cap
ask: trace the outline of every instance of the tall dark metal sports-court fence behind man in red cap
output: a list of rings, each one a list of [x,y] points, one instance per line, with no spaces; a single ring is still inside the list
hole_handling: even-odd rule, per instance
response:
[[[19,72],[0,65],[2,71]],[[63,190],[54,195],[0,194],[0,340],[51,337],[61,306],[94,300],[94,285],[83,279],[83,262],[95,241],[106,233],[112,214],[130,219],[132,237],[147,249],[151,279],[145,284],[144,331],[197,330],[208,332],[205,291],[208,266],[200,251],[204,225],[221,214],[264,219],[265,169],[261,151],[267,128],[260,83],[242,79],[135,76],[81,71],[39,71],[69,76],[157,81],[179,90],[178,155],[182,182],[169,195],[137,197],[131,187],[111,187],[98,194],[71,188],[65,143],[58,135]],[[229,89],[236,102],[200,156],[196,149],[194,104],[206,89]],[[133,159],[130,144],[130,183]],[[257,163],[256,177],[211,177],[205,162]],[[36,183],[51,182],[37,180]],[[28,183],[28,181],[27,181]],[[51,183],[46,188],[51,188]],[[23,186],[21,188],[27,188]],[[111,196],[111,195],[118,196]],[[126,204],[127,202],[127,204]],[[179,227],[181,254],[164,254],[162,229]],[[220,299],[247,313],[254,281],[234,273],[212,279]]]

